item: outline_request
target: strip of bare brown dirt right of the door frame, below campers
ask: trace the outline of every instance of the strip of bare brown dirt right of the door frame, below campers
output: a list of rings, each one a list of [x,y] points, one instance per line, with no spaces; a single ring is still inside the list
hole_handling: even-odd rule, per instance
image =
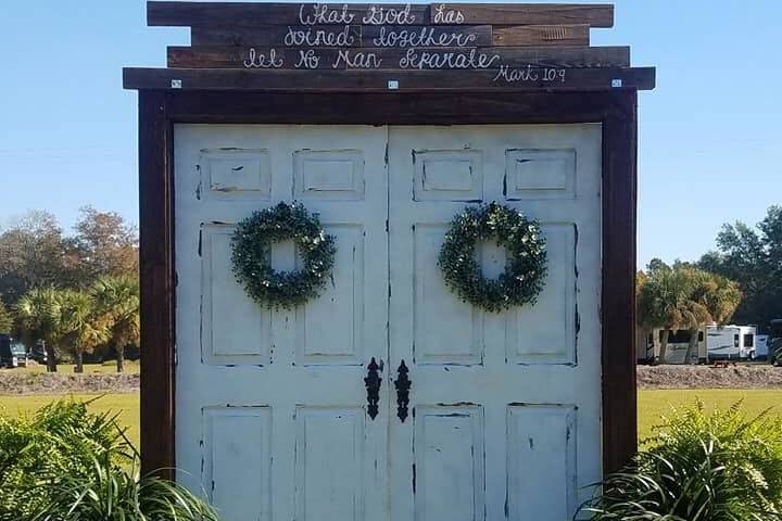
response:
[[[639,366],[640,389],[773,389],[782,387],[782,368],[767,365]]]

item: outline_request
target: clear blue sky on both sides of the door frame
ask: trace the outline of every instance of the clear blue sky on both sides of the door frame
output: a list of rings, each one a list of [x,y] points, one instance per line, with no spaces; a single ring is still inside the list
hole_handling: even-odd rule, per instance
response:
[[[85,204],[137,223],[137,98],[121,68],[163,66],[187,29],[146,27],[141,0],[0,9],[0,225],[45,208],[67,228]],[[593,29],[593,45],[658,67],[640,97],[643,264],[697,258],[722,223],[782,204],[781,18],[775,0],[619,0],[616,27]]]

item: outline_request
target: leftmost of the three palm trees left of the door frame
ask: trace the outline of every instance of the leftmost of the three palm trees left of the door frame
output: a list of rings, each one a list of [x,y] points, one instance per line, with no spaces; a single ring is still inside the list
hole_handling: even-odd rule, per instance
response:
[[[47,371],[56,372],[54,347],[60,340],[61,301],[53,288],[29,290],[15,306],[20,327],[28,342],[43,341]]]

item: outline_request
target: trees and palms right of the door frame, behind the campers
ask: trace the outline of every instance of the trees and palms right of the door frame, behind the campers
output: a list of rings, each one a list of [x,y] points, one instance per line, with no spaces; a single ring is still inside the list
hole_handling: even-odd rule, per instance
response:
[[[653,259],[636,281],[639,326],[661,329],[659,360],[670,334],[686,330],[690,360],[697,331],[729,320],[766,330],[782,318],[782,206],[771,206],[755,228],[723,225],[717,250],[697,263]]]

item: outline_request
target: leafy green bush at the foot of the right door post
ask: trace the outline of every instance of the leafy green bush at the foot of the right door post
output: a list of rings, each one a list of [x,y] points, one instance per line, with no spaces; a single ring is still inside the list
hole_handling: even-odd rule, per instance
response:
[[[782,520],[782,422],[741,404],[674,409],[641,452],[582,506],[596,521]]]

